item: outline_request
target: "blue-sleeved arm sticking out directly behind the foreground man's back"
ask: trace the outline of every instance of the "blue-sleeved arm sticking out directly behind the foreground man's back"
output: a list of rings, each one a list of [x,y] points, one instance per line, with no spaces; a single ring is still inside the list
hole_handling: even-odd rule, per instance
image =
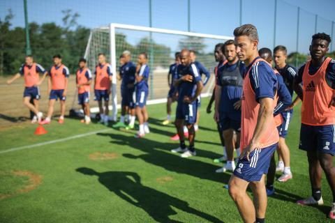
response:
[[[277,75],[278,81],[278,102],[276,107],[274,108],[274,116],[284,112],[285,109],[290,107],[292,102],[292,97],[290,95],[290,91],[288,91],[288,87],[284,84],[283,77],[281,75]]]

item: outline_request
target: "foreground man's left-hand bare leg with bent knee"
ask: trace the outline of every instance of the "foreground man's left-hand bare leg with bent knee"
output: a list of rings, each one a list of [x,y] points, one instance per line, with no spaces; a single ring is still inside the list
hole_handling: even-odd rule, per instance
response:
[[[232,175],[229,181],[229,194],[235,202],[237,209],[239,210],[239,214],[244,222],[253,223],[256,218],[255,206],[248,194],[246,194],[248,184],[248,181]]]

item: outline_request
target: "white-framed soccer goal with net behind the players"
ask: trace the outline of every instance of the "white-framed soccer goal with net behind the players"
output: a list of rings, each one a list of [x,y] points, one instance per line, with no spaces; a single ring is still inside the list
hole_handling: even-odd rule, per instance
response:
[[[92,73],[98,63],[98,54],[104,53],[112,65],[113,85],[116,88],[112,98],[112,116],[117,113],[117,105],[121,102],[120,83],[115,74],[119,72],[119,56],[125,50],[131,52],[133,63],[137,56],[146,52],[149,56],[150,68],[148,104],[165,102],[168,95],[168,70],[174,63],[174,53],[181,49],[192,49],[196,52],[197,61],[200,61],[211,73],[209,82],[204,87],[202,95],[209,95],[214,88],[214,47],[217,43],[224,43],[232,39],[230,36],[216,36],[202,33],[191,33],[168,29],[156,29],[145,26],[126,24],[110,24],[110,26],[92,29],[84,57]],[[94,103],[91,100],[91,103]],[[73,103],[76,105],[76,103]],[[92,112],[97,109],[93,108]]]

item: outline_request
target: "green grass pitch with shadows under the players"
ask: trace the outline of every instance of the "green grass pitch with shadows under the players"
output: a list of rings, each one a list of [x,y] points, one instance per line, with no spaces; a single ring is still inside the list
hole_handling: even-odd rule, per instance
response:
[[[1,130],[0,222],[241,222],[224,188],[231,173],[214,173],[221,164],[212,160],[222,147],[213,114],[205,113],[207,102],[200,109],[198,156],[188,159],[170,153],[178,143],[170,141],[174,127],[161,125],[165,105],[149,106],[151,133],[144,139],[135,139],[135,131],[70,118],[45,126],[49,132],[40,136],[33,134],[36,125]],[[325,176],[325,206],[295,203],[311,194],[306,154],[297,148],[299,122],[298,107],[287,138],[293,179],[275,183],[267,222],[330,222]]]

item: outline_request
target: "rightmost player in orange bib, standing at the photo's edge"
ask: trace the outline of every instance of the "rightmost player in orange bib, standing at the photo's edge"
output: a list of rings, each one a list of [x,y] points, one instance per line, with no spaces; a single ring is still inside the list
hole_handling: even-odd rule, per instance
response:
[[[302,100],[299,148],[308,157],[312,196],[297,201],[302,205],[322,205],[321,178],[325,171],[333,194],[329,217],[335,219],[335,61],[326,56],[331,38],[316,33],[309,47],[311,60],[295,76],[295,93]],[[304,83],[302,86],[301,84]]]

